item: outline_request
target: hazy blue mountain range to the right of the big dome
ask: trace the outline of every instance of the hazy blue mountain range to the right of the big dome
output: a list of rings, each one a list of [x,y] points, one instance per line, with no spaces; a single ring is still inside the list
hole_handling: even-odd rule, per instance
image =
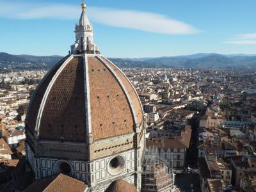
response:
[[[160,58],[112,58],[118,67],[256,67],[256,54],[198,53],[187,56]]]

